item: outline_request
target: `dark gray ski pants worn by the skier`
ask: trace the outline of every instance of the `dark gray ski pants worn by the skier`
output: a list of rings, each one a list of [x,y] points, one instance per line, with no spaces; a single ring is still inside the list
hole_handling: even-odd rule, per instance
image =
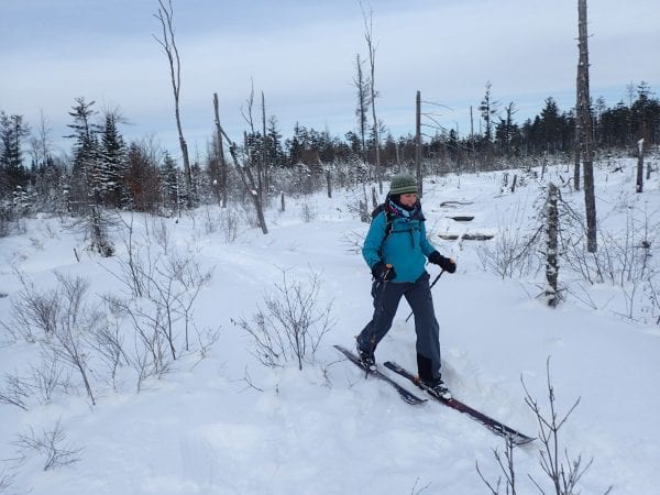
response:
[[[433,310],[433,299],[429,288],[429,274],[425,272],[414,283],[375,280],[372,285],[374,315],[358,336],[358,345],[363,351],[374,352],[392,328],[402,296],[413,309],[417,354],[430,360],[433,377],[440,376],[440,327]]]

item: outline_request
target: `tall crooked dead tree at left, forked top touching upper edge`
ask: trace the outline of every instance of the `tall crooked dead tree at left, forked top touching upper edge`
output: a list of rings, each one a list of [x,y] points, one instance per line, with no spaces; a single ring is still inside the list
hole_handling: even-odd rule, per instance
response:
[[[182,156],[184,157],[184,174],[186,176],[186,186],[188,188],[186,194],[186,205],[188,208],[193,207],[193,198],[195,196],[193,186],[193,174],[190,173],[190,158],[188,157],[188,144],[184,138],[184,131],[182,129],[182,118],[179,113],[179,95],[182,90],[182,61],[179,57],[178,48],[174,41],[174,11],[172,8],[172,0],[167,1],[167,4],[163,0],[158,0],[158,12],[154,16],[161,21],[163,29],[162,37],[153,35],[158,44],[163,47],[167,62],[169,63],[169,76],[172,78],[172,90],[174,92],[174,116],[176,118],[176,129],[179,136],[179,146],[182,148]]]

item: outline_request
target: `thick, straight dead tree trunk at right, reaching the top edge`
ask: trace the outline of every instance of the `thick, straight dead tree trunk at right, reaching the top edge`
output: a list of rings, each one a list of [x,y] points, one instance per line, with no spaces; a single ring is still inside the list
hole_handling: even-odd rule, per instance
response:
[[[580,136],[580,152],[584,174],[584,206],[586,213],[586,250],[597,251],[596,243],[596,195],[594,191],[594,148],[591,101],[588,96],[588,47],[586,33],[586,0],[578,0],[578,31],[580,59],[578,63],[578,116],[576,134]]]

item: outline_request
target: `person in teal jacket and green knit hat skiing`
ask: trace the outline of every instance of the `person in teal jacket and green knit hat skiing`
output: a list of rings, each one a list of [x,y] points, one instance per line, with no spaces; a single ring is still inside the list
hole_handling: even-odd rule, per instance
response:
[[[383,210],[372,220],[362,255],[374,277],[372,320],[356,338],[358,354],[367,370],[375,370],[374,352],[385,337],[402,299],[413,308],[417,334],[419,380],[438,396],[449,391],[440,374],[440,336],[429,288],[426,260],[454,273],[457,264],[429,242],[417,198],[417,180],[402,174],[392,178]]]

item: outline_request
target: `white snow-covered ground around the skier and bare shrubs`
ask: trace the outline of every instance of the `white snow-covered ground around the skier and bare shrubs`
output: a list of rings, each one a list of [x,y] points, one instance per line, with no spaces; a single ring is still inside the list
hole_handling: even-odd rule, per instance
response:
[[[644,221],[646,215],[652,227],[660,207],[657,177],[636,195],[634,161],[619,164],[623,172],[613,172],[613,163],[598,164],[600,221],[623,234],[627,220]],[[571,290],[564,302],[550,309],[537,297],[542,272],[502,278],[485,271],[483,251],[481,257],[477,251],[494,250],[505,230],[519,227],[524,233],[532,232],[544,198],[539,186],[550,179],[561,184],[559,176],[566,179],[572,173],[564,166],[551,167],[541,182],[509,170],[509,186],[514,174],[522,179],[515,193],[503,190],[504,174],[432,177],[425,184],[431,241],[459,266],[433,288],[446,381],[465,403],[536,436],[537,419],[525,403],[521,380],[547,411],[550,358],[559,415],[580,398],[561,429],[561,448],[571,459],[581,454],[583,463],[593,458],[579,485],[581,493],[604,493],[614,485],[616,494],[658,494],[658,308],[640,296],[631,320],[619,287],[592,286],[560,268],[560,283]],[[578,210],[582,208],[581,193],[564,188],[562,194]],[[50,400],[35,393],[24,398],[26,410],[0,404],[0,480],[10,484],[4,493],[490,493],[475,463],[493,483],[502,475],[493,455],[493,449],[504,449],[499,437],[439,404],[406,405],[387,384],[364,380],[332,349],[334,343],[353,345],[353,336],[370,319],[372,308],[371,276],[356,251],[367,226],[352,212],[360,189],[336,190],[333,196],[290,198],[286,212],[274,206],[267,212],[267,235],[241,220],[233,242],[221,230],[208,228],[209,216],[215,224],[220,222],[216,209],[200,209],[195,218],[134,216],[140,242],[150,226],[152,254],[167,245],[168,253],[213,268],[193,310],[202,338],[207,330],[217,330],[217,341],[204,352],[193,344],[189,353],[177,355],[168,373],[145,380],[140,393],[130,366],[119,371],[113,387],[106,380],[108,372],[92,361],[94,406],[75,370],[69,373],[77,392],[56,391]],[[444,201],[461,205],[441,206]],[[315,218],[304,221],[304,211]],[[459,215],[474,220],[449,218]],[[90,285],[90,302],[125,292],[112,275],[119,272],[118,260],[127,258],[119,230],[112,234],[117,255],[100,258],[85,251],[81,234],[58,219],[29,220],[24,227],[24,234],[0,239],[0,293],[7,296],[0,298],[0,318],[14,332],[19,272],[37,292],[55,287],[55,272],[82,276]],[[465,231],[495,238],[443,241],[438,235]],[[657,253],[657,244],[651,249]],[[429,266],[429,272],[435,276],[438,270]],[[310,274],[320,280],[317,308],[332,304],[334,326],[302,371],[294,361],[264,366],[254,355],[253,341],[235,322],[253,321],[257,307],[265,308],[264,299],[276,297],[276,285],[304,285]],[[378,361],[392,359],[414,369],[415,332],[413,321],[405,322],[408,311],[402,302],[377,350]],[[105,315],[109,316],[107,309]],[[128,336],[129,321],[121,324]],[[12,339],[7,328],[0,331],[0,391],[7,394],[8,380],[31,376],[42,353],[38,343]],[[59,460],[76,462],[44,470],[47,449],[25,448],[25,440],[43,439],[56,425],[66,436],[56,447],[72,452]],[[527,474],[551,491],[539,465],[541,447],[536,441],[514,452],[519,494],[538,493]]]

